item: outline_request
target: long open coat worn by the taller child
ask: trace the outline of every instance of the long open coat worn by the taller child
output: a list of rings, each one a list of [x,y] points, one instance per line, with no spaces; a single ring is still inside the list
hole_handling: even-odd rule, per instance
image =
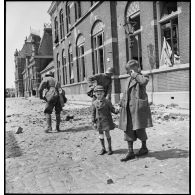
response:
[[[128,78],[126,90],[119,104],[121,106],[119,129],[128,131],[153,126],[146,93],[148,81],[149,78],[140,73],[132,73]],[[127,111],[132,120],[127,119]],[[130,129],[127,129],[127,125]]]

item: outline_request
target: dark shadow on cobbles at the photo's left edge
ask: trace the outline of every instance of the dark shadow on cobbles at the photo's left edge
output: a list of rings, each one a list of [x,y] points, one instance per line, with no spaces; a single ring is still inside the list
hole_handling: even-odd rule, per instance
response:
[[[22,151],[17,144],[14,133],[12,131],[6,131],[6,158],[19,157],[22,155]]]

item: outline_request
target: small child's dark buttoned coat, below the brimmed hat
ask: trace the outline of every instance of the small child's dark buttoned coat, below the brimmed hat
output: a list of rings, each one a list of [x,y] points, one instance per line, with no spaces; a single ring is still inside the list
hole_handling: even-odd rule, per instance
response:
[[[97,124],[97,130],[112,130],[115,124],[112,120],[112,114],[117,114],[117,110],[113,107],[112,103],[107,100],[95,100],[92,103],[92,123]]]

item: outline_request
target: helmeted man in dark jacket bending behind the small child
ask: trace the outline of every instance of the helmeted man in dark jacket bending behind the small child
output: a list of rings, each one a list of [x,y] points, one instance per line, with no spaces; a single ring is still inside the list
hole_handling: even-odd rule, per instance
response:
[[[112,75],[114,73],[114,69],[112,67],[109,67],[105,73],[100,73],[100,74],[96,74],[96,75],[92,75],[88,78],[88,84],[89,84],[89,88],[90,91],[92,93],[92,95],[90,97],[92,97],[92,101],[94,101],[96,99],[96,96],[93,94],[93,89],[95,88],[95,86],[97,85],[101,85],[104,87],[105,90],[105,98],[111,101],[111,91],[112,91]]]

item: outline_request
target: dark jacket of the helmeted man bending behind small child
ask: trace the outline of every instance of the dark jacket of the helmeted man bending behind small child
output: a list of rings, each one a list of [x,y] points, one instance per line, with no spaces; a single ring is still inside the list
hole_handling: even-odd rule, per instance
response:
[[[112,91],[112,78],[107,76],[104,73],[96,74],[88,78],[89,87],[93,85],[93,82],[96,81],[96,85],[101,85],[105,90],[105,97],[111,99]]]

